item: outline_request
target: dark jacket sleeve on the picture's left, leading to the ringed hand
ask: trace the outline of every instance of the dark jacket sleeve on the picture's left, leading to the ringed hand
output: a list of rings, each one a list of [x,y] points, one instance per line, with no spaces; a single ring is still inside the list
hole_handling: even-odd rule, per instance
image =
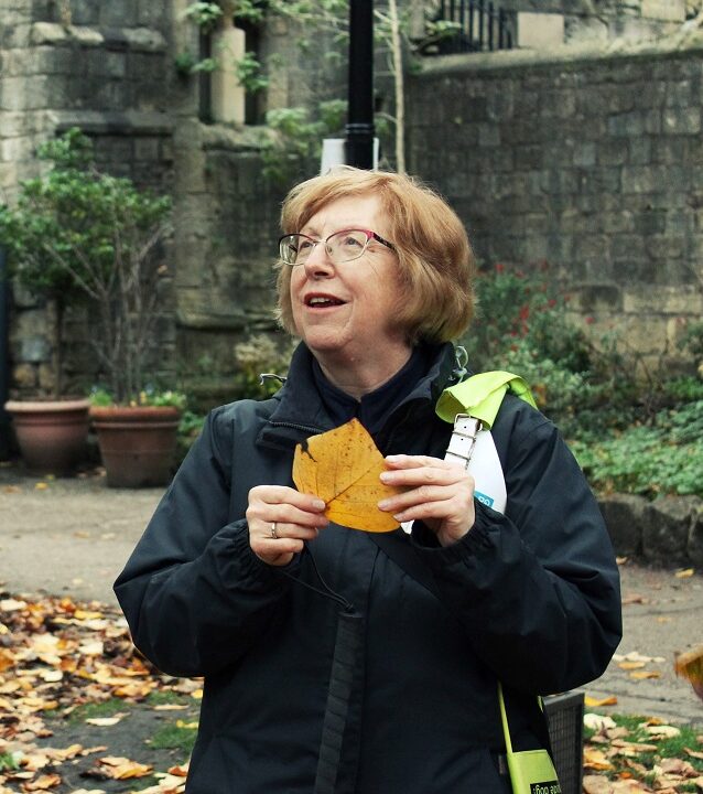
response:
[[[115,582],[134,644],[171,675],[235,663],[289,587],[251,551],[246,521],[229,518],[229,457],[219,448],[231,421],[221,409],[207,418]]]

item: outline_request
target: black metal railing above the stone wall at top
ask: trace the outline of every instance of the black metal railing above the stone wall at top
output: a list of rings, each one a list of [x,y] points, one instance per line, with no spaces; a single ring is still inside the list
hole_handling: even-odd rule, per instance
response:
[[[424,55],[511,50],[515,14],[487,0],[442,0],[434,22],[453,22],[455,33],[433,41]]]

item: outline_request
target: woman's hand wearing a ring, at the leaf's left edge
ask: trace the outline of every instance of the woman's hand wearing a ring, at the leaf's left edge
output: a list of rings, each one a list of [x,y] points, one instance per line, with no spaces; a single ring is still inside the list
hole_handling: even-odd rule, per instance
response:
[[[327,526],[325,503],[285,485],[257,485],[249,491],[249,546],[268,565],[288,565],[303,541]]]

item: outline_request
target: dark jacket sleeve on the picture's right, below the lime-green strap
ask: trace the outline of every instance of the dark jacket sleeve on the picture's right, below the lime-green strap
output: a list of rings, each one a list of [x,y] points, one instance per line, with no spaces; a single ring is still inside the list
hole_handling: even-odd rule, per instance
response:
[[[458,543],[432,547],[422,528],[413,540],[500,680],[565,691],[597,678],[620,641],[619,573],[595,497],[556,428],[515,404],[501,415],[494,434],[507,449],[506,515],[476,502],[476,523]]]

